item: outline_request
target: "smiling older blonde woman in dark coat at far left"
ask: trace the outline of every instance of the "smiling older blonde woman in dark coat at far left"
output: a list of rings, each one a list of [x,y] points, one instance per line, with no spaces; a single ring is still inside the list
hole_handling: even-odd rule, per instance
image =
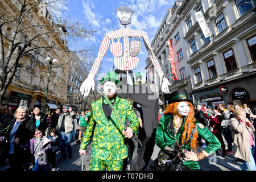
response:
[[[33,138],[36,128],[35,123],[28,117],[27,107],[18,107],[6,128],[4,137],[9,145],[10,170],[22,171],[22,164],[27,170],[30,164],[29,141]]]

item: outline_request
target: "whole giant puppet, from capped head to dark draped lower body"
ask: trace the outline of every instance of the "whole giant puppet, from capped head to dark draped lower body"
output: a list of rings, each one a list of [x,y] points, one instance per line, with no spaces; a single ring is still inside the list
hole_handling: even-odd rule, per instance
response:
[[[90,89],[94,90],[93,78],[96,75],[100,61],[103,59],[109,48],[110,42],[112,42],[110,45],[110,51],[115,57],[114,64],[117,69],[120,71],[126,71],[128,75],[131,69],[137,68],[139,63],[137,55],[141,50],[141,38],[144,41],[144,45],[146,46],[154,68],[160,77],[160,83],[162,85],[160,89],[162,92],[168,93],[168,85],[170,85],[170,82],[166,77],[164,77],[162,68],[152,51],[147,33],[144,31],[126,28],[126,25],[131,23],[131,15],[133,15],[134,11],[126,6],[120,6],[116,11],[121,24],[125,26],[125,28],[110,32],[104,36],[93,67],[88,77],[81,85],[81,93],[84,94],[84,96],[88,96]],[[123,45],[120,42],[121,38],[123,38]],[[133,38],[130,43],[129,38]],[[125,82],[124,80],[125,79],[123,79],[122,83]],[[131,90],[133,90],[133,92],[130,92]],[[136,92],[136,90],[139,90],[139,92]],[[146,92],[144,92],[144,90],[146,90]],[[131,162],[131,170],[141,171],[146,168],[154,151],[155,133],[158,125],[158,97],[154,92],[152,92],[152,90],[146,88],[145,85],[123,85],[122,89],[118,90],[117,95],[121,98],[130,98],[134,102],[138,103],[142,109],[141,115],[144,127],[143,129],[140,128],[141,132],[139,133],[139,139],[143,144],[136,158]]]

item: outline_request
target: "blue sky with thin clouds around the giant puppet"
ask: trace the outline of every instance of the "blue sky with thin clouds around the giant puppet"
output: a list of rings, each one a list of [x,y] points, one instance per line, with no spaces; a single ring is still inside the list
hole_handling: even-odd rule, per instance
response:
[[[89,46],[96,49],[97,55],[104,35],[110,31],[123,28],[115,12],[117,7],[122,5],[129,6],[134,10],[134,14],[131,16],[131,24],[126,28],[146,31],[151,42],[168,9],[174,5],[174,2],[173,0],[71,0],[68,2],[66,13],[73,21],[91,24],[96,30],[92,38],[80,39],[71,49],[80,50]],[[139,65],[133,70],[133,73],[141,72],[144,80],[146,78],[145,60],[148,54],[143,40],[141,40],[141,43],[142,49],[138,55]],[[114,57],[109,48],[101,61],[102,73],[107,73],[113,68],[113,60]]]

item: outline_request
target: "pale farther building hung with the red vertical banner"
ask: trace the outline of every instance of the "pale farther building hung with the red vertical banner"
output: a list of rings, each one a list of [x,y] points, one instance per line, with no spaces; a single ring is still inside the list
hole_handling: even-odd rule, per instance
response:
[[[183,1],[176,1],[174,6],[170,8],[164,17],[158,32],[151,42],[151,46],[155,52],[156,58],[161,65],[164,75],[170,82],[170,93],[179,89],[187,90],[191,94],[191,78],[189,65],[187,64],[187,46],[184,41],[185,32],[183,30],[183,23],[180,15],[177,14]],[[171,40],[171,47],[174,55],[175,70],[171,68],[170,63],[170,48],[167,41]],[[148,77],[151,77],[152,84],[154,84],[154,92],[159,95],[159,104],[163,106],[163,95],[159,94],[160,82],[159,76],[155,74],[154,65],[152,65],[150,58],[146,59],[146,68]],[[172,77],[176,75],[176,80]]]

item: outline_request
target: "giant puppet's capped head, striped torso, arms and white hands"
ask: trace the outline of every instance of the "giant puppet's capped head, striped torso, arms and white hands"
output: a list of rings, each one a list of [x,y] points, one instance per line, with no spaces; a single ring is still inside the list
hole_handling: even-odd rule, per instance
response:
[[[121,24],[125,26],[125,28],[110,32],[104,36],[101,42],[100,49],[98,51],[97,58],[94,61],[93,67],[90,70],[88,77],[82,83],[80,92],[84,94],[84,96],[88,96],[90,89],[94,90],[94,76],[96,75],[98,68],[100,67],[101,60],[105,56],[106,51],[108,51],[110,42],[112,42],[112,44],[110,45],[110,51],[114,55],[114,64],[117,69],[121,71],[129,71],[137,68],[139,64],[139,59],[137,55],[141,50],[140,39],[142,38],[144,41],[144,45],[146,46],[148,55],[150,56],[150,59],[154,65],[154,68],[156,72],[158,72],[160,82],[162,82],[162,91],[164,93],[168,93],[168,85],[171,84],[167,80],[167,78],[164,77],[162,68],[160,67],[158,60],[156,59],[150,45],[150,40],[148,39],[147,33],[145,31],[126,28],[126,25],[131,23],[131,15],[133,15],[134,11],[127,6],[120,6],[116,11]],[[133,38],[130,43],[129,38]],[[123,45],[119,41],[120,39],[123,39]],[[116,42],[114,42],[114,40]]]

